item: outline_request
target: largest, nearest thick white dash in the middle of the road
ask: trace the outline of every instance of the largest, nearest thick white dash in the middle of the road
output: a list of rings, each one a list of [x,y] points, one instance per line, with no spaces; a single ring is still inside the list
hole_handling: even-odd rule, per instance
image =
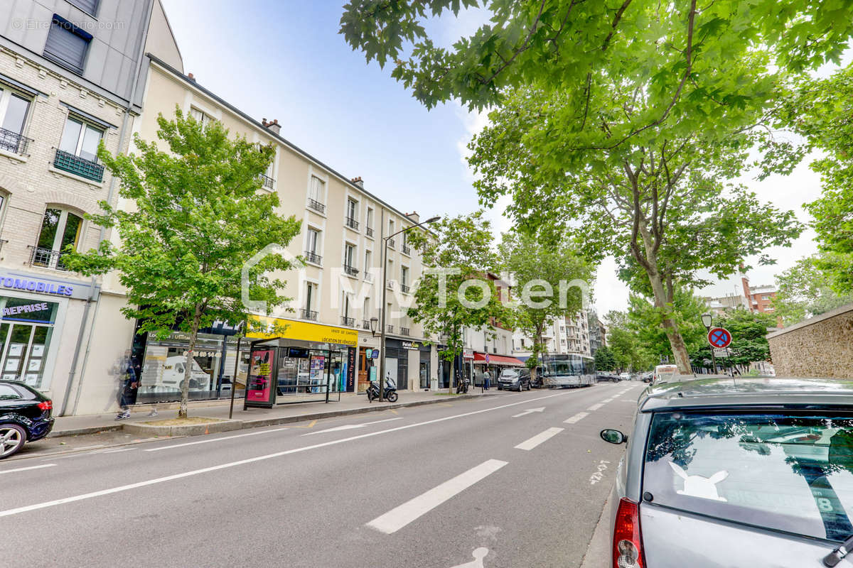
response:
[[[450,497],[465,491],[471,485],[474,485],[481,479],[485,479],[498,469],[507,465],[508,462],[500,460],[488,460],[479,464],[475,468],[469,469],[465,473],[460,473],[455,478],[445,481],[443,484],[432,488],[431,490],[416,496],[414,499],[404,502],[397,508],[377,517],[370,521],[367,525],[390,535],[399,531],[405,525],[409,525],[415,519],[429,513],[432,509],[438,507]]]

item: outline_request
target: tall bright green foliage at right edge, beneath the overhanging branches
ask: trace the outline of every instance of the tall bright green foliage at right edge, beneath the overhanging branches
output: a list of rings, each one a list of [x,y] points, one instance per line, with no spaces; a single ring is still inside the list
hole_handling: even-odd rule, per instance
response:
[[[804,83],[783,103],[783,123],[823,152],[811,164],[821,175],[821,198],[806,204],[823,255],[812,264],[839,295],[853,292],[853,66]],[[824,282],[825,278],[821,278]]]

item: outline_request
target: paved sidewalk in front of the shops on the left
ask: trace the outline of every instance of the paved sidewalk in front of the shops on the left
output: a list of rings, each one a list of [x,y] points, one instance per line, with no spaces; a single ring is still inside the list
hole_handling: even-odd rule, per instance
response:
[[[446,393],[446,390],[441,391]],[[400,398],[394,404],[386,402],[368,402],[367,396],[356,393],[341,393],[340,401],[329,402],[311,401],[299,404],[280,404],[272,408],[250,408],[243,410],[243,399],[234,401],[234,417],[229,430],[243,428],[271,426],[274,424],[285,424],[287,422],[301,422],[305,420],[319,420],[332,416],[345,416],[350,414],[361,414],[363,412],[377,412],[406,406],[418,406],[421,404],[449,403],[454,400],[473,399],[482,396],[500,396],[504,393],[495,389],[480,393],[479,388],[472,388],[468,394],[458,396],[440,395],[435,391],[398,391]],[[229,400],[199,401],[189,403],[190,417],[228,419]],[[166,406],[163,404],[162,406]],[[131,417],[116,421],[115,414],[98,414],[84,416],[59,416],[56,418],[53,431],[49,438],[59,436],[73,436],[77,434],[106,432],[110,430],[121,430],[125,424],[136,422],[151,422],[177,417],[177,410],[158,409],[160,416],[152,418],[148,416],[151,405],[146,404],[141,408],[131,407]]]

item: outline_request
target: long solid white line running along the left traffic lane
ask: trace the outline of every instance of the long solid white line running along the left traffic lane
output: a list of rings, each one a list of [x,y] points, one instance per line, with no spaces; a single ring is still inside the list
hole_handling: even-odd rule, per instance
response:
[[[350,436],[349,438],[329,440],[328,442],[322,442],[321,444],[306,445],[306,446],[303,446],[301,448],[294,448],[293,450],[276,451],[276,453],[273,453],[273,454],[266,454],[264,456],[249,457],[245,460],[239,460],[237,462],[222,463],[218,466],[212,466],[210,468],[194,469],[194,470],[189,471],[189,472],[175,473],[173,475],[167,475],[165,477],[160,477],[160,478],[156,478],[156,479],[148,479],[146,481],[139,481],[137,483],[131,483],[129,485],[119,485],[118,487],[112,487],[110,489],[104,489],[102,491],[92,491],[90,493],[83,493],[81,495],[64,497],[62,499],[55,499],[54,501],[40,502],[40,503],[35,503],[33,505],[26,505],[25,507],[7,509],[5,511],[0,511],[0,517],[9,517],[9,516],[14,515],[14,514],[27,513],[29,511],[38,511],[39,509],[55,507],[57,505],[62,505],[65,503],[84,501],[85,499],[92,499],[94,497],[112,495],[113,493],[120,493],[121,491],[131,491],[132,489],[138,489],[139,487],[147,487],[148,485],[156,485],[159,483],[165,483],[166,481],[172,481],[174,479],[183,479],[183,478],[187,478],[187,477],[192,477],[194,475],[200,475],[201,473],[218,471],[220,469],[235,468],[236,466],[245,465],[247,463],[263,462],[264,460],[270,460],[274,457],[289,456],[290,454],[298,454],[299,452],[302,452],[302,451],[316,450],[318,448],[325,448],[326,446],[329,446],[329,445],[344,444],[345,442],[351,442],[351,441],[354,441],[357,439],[372,438],[374,436],[380,436],[380,435],[386,434],[386,433],[399,432],[401,430],[408,430],[409,428],[414,428],[414,427],[419,427],[419,426],[427,426],[428,424],[436,424],[438,422],[444,422],[447,420],[455,420],[456,418],[464,418],[465,416],[474,416],[477,414],[483,414],[484,412],[491,412],[492,410],[502,410],[504,408],[509,408],[510,406],[518,406],[519,404],[530,404],[531,402],[535,402],[537,400],[551,399],[554,397],[565,396],[566,394],[569,394],[569,393],[571,393],[571,391],[568,391],[566,393],[548,394],[548,396],[539,397],[537,399],[520,400],[519,402],[511,402],[509,404],[501,404],[500,406],[492,406],[491,408],[484,408],[481,410],[471,410],[470,412],[463,412],[462,414],[455,414],[453,416],[443,416],[441,418],[433,418],[432,420],[427,420],[425,422],[415,422],[414,424],[406,424],[405,426],[398,426],[396,428],[388,428],[387,430],[380,430],[378,432],[368,432],[368,433],[358,434],[357,436]],[[172,447],[172,446],[169,446],[169,447]],[[79,455],[79,454],[77,454],[77,455]],[[67,457],[72,457],[72,456],[67,456]],[[62,459],[62,458],[59,457],[56,459]]]

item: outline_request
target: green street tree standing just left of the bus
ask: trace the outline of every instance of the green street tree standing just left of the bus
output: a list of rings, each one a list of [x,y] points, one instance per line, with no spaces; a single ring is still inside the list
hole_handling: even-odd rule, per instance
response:
[[[503,235],[500,252],[503,270],[514,279],[516,296],[523,296],[520,301],[516,298],[516,329],[533,338],[527,366],[535,380],[539,354],[547,352],[545,326],[556,318],[581,312],[586,300],[583,295],[592,287],[593,273],[565,242],[508,232]]]

